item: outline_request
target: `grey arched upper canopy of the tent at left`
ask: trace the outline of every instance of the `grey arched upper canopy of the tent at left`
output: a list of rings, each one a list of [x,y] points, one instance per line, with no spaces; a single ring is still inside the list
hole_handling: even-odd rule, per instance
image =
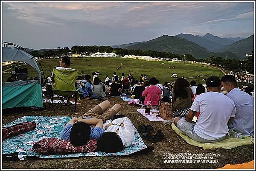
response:
[[[24,50],[20,48],[10,48],[10,47],[2,47],[2,62],[7,62],[7,61],[21,61],[21,62],[26,62],[39,74],[39,80],[41,83],[41,78],[42,74],[41,71],[38,67],[38,64],[36,63],[35,58],[30,55],[29,53],[26,53]]]

